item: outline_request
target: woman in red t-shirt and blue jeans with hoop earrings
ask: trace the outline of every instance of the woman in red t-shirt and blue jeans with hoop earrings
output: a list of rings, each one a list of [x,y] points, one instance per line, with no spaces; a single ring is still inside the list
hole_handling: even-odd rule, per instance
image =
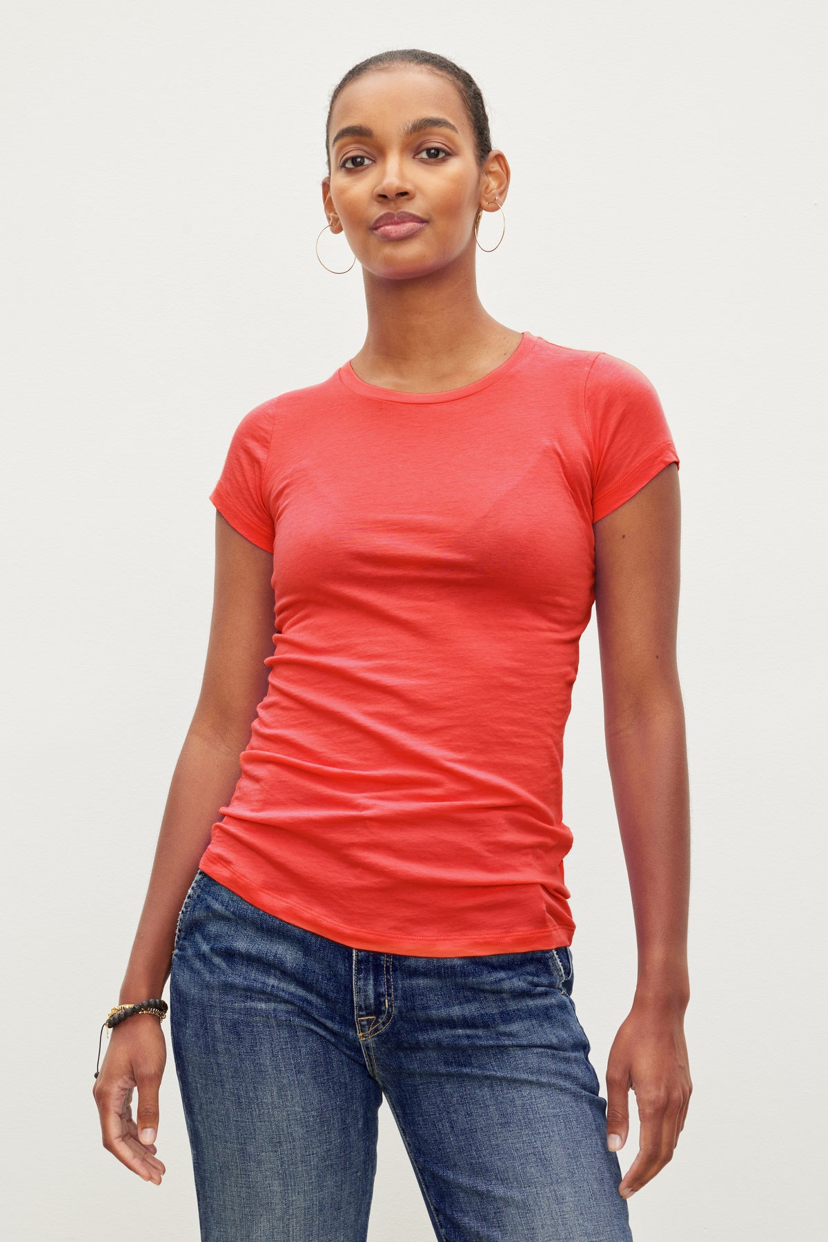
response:
[[[170,975],[202,1238],[365,1238],[384,1099],[437,1237],[629,1238],[691,1090],[679,460],[634,366],[480,304],[510,173],[466,71],[361,62],[326,153],[367,335],[246,415],[211,494],[204,684],[120,1005]],[[593,602],[638,940],[606,1100],[561,818]],[[94,1087],[156,1184],[161,1017],[125,1011]]]

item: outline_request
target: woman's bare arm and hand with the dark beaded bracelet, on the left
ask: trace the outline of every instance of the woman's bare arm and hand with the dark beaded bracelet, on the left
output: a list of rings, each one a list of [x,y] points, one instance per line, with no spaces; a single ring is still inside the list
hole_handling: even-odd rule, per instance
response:
[[[144,908],[118,1004],[160,996],[170,972],[179,910],[210,841],[210,828],[236,787],[240,755],[267,693],[264,658],[273,653],[273,561],[216,512],[212,620],[201,692],[179,755],[161,818]],[[113,1028],[93,1094],[103,1144],[148,1181],[160,1182],[155,1158],[158,1088],[165,1063],[160,1021],[137,1013]],[[138,1124],[129,1103],[138,1087]]]

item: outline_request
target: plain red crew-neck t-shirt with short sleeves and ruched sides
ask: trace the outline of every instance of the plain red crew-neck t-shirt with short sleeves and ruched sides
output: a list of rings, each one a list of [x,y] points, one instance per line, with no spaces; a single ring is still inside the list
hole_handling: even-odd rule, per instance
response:
[[[592,524],[670,462],[639,370],[528,332],[451,391],[346,363],[251,410],[210,499],[273,553],[274,651],[200,867],[356,949],[571,944],[561,764]]]

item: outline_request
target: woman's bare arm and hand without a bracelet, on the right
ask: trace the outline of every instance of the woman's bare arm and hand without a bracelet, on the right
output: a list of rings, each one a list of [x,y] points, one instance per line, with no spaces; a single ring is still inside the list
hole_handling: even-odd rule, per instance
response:
[[[627,1197],[667,1164],[693,1090],[684,1040],[690,999],[690,805],[675,640],[679,606],[678,471],[665,467],[596,523],[596,616],[607,760],[638,945],[633,1006],[607,1066],[607,1133],[641,1117]]]

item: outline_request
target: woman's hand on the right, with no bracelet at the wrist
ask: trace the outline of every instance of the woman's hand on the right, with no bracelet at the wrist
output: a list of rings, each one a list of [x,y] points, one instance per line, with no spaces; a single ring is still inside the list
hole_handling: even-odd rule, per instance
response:
[[[629,1089],[636,1093],[641,1134],[638,1155],[618,1186],[628,1199],[664,1165],[684,1129],[693,1083],[684,1038],[684,1006],[636,1000],[616,1036],[607,1062],[607,1145],[623,1148],[629,1134]],[[611,1135],[621,1141],[610,1143]]]

